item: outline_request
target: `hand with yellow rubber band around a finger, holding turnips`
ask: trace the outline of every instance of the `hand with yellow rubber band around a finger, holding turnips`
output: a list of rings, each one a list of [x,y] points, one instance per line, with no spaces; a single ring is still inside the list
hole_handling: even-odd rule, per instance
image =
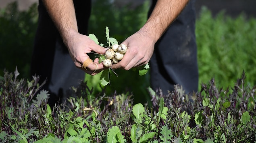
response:
[[[102,62],[99,63],[98,58],[92,61],[87,53],[94,51],[98,54],[105,54],[107,48],[96,44],[88,36],[75,32],[66,44],[75,66],[85,71],[85,73],[96,75],[106,68]]]

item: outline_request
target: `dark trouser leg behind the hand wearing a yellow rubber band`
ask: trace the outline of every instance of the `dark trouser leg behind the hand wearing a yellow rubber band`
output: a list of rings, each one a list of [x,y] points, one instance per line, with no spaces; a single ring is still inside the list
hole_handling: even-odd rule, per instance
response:
[[[90,0],[73,0],[78,23],[78,31],[87,34],[91,13]],[[85,73],[75,67],[67,47],[63,44],[58,30],[54,26],[42,0],[38,6],[38,26],[35,34],[31,75],[39,75],[40,81],[47,79],[43,89],[50,92],[49,104],[67,94],[71,86],[76,86],[84,79]]]

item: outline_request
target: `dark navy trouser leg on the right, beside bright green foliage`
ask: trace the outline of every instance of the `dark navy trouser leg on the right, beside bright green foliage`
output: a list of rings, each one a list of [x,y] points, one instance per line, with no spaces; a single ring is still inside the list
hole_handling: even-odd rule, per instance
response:
[[[150,8],[154,8],[156,0]],[[155,44],[150,59],[152,89],[162,89],[166,95],[174,85],[181,85],[185,93],[198,90],[197,45],[195,36],[195,0],[190,0],[179,17]]]

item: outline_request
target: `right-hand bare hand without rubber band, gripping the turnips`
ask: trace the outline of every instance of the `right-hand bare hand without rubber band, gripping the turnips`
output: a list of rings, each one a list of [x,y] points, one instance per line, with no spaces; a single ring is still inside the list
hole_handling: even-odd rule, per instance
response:
[[[139,30],[129,36],[122,44],[127,45],[128,50],[120,62],[111,66],[112,69],[129,70],[147,64],[153,54],[155,41],[146,31]]]

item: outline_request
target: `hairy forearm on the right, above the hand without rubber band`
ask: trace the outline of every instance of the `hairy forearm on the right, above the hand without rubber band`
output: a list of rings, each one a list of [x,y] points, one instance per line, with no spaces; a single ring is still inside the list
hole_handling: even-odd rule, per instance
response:
[[[187,2],[189,0],[158,0],[152,14],[141,30],[150,34],[152,40],[156,42],[179,16]]]

